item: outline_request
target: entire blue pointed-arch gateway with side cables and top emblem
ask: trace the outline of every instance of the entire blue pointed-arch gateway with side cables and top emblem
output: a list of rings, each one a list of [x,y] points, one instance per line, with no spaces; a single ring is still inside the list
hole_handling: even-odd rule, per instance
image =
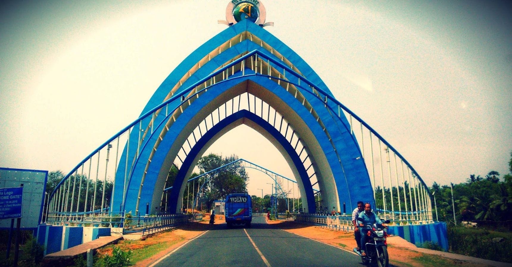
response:
[[[272,25],[265,15],[259,1],[230,2],[220,21],[229,27],[186,57],[139,118],[62,179],[50,212],[139,214],[148,206],[152,214],[180,213],[186,178],[199,158],[245,124],[286,159],[305,212],[354,208],[363,200],[397,222],[432,222],[428,187],[414,168],[263,28]],[[169,180],[173,165],[178,176]],[[112,188],[105,187],[108,177]]]

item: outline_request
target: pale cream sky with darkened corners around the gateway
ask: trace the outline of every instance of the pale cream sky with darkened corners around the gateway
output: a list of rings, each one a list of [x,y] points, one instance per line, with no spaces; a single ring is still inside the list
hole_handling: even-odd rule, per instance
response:
[[[187,55],[226,28],[217,20],[227,4],[1,2],[0,167],[69,172],[133,122]],[[510,2],[263,4],[275,23],[265,30],[309,63],[426,184],[507,173]],[[278,150],[245,126],[208,152],[292,176]],[[270,178],[248,172],[249,193],[270,193]]]

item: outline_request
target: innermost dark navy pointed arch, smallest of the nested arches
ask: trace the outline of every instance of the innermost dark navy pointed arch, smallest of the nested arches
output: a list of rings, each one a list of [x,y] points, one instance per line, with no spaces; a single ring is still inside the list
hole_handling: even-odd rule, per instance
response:
[[[301,158],[298,157],[292,145],[278,130],[276,130],[272,125],[266,122],[266,120],[262,119],[260,116],[255,115],[254,113],[248,110],[240,110],[227,116],[214,127],[212,127],[210,130],[208,130],[208,132],[206,132],[205,135],[203,135],[203,137],[201,137],[198,140],[198,142],[194,145],[194,147],[190,150],[178,171],[178,175],[176,176],[176,180],[173,184],[173,189],[170,192],[169,203],[167,204],[169,210],[174,211],[176,207],[181,207],[181,197],[183,195],[182,186],[185,184],[185,179],[190,175],[192,169],[199,160],[199,157],[201,157],[201,155],[203,154],[202,152],[204,152],[204,150],[206,150],[209,147],[208,143],[211,143],[211,141],[215,141],[216,139],[218,139],[218,137],[220,137],[218,136],[218,134],[223,134],[222,131],[226,128],[232,129],[240,124],[246,124],[249,127],[251,127],[251,124],[244,122],[244,119],[249,119],[251,122],[261,126],[275,139],[275,141],[279,143],[279,145],[281,145],[281,148],[284,149],[284,151],[286,151],[288,156],[291,158],[294,166],[297,167],[298,173],[300,174],[300,179],[302,180],[302,184],[304,185],[306,191],[305,198],[306,201],[308,201],[308,207],[315,206],[313,188],[311,186],[311,183],[309,182],[308,174],[306,172],[306,169],[304,168],[304,165],[302,164]],[[273,140],[269,141],[275,143],[273,142]]]

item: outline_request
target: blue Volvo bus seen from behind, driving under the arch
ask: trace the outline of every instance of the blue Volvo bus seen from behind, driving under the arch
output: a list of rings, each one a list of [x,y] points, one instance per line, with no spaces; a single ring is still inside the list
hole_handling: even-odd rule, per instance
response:
[[[227,227],[234,224],[245,224],[251,227],[252,201],[247,192],[230,193],[226,196],[225,217]]]

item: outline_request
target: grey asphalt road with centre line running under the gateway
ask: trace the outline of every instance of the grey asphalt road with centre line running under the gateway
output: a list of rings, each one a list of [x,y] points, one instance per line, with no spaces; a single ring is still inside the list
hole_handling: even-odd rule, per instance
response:
[[[254,216],[251,228],[216,225],[155,266],[363,265],[357,255],[278,229],[264,217]]]

